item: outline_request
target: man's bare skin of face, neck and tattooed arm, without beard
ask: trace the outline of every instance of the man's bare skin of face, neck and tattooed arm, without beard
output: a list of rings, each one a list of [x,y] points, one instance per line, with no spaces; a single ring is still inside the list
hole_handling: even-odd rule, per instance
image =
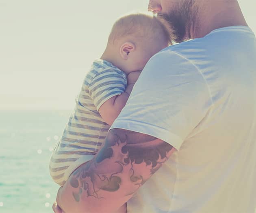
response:
[[[236,0],[151,0],[149,10],[174,17],[190,11],[179,40],[200,38],[217,28],[247,23]],[[183,4],[184,6],[184,4]],[[184,11],[182,11],[184,12]],[[168,16],[165,16],[168,17]],[[115,212],[156,173],[176,151],[158,138],[113,129],[95,157],[80,166],[60,188],[54,211],[60,213]],[[62,209],[62,210],[61,210]]]

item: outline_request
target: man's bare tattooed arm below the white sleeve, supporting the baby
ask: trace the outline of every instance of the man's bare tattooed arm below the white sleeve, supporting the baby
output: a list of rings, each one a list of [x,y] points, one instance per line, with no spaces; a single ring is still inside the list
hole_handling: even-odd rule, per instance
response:
[[[113,129],[95,157],[60,188],[65,213],[111,213],[119,209],[175,151],[152,136]]]

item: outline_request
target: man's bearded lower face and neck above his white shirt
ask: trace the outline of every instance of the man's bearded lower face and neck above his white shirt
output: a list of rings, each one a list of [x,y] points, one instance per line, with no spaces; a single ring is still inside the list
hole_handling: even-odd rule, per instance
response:
[[[172,22],[180,43],[228,26],[247,26],[237,0],[150,0],[148,11]]]

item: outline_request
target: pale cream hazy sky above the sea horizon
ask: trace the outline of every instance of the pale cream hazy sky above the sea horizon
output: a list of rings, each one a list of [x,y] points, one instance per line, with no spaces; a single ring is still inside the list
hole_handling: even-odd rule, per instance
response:
[[[256,33],[256,0],[239,1]],[[72,110],[115,20],[148,0],[0,0],[0,110]]]

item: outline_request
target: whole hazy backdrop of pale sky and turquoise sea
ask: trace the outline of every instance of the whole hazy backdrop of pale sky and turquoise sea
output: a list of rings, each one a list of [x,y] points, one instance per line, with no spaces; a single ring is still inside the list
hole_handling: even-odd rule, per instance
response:
[[[239,2],[256,32],[256,1]],[[147,4],[0,0],[0,213],[52,212],[48,161],[85,73],[117,17]]]

